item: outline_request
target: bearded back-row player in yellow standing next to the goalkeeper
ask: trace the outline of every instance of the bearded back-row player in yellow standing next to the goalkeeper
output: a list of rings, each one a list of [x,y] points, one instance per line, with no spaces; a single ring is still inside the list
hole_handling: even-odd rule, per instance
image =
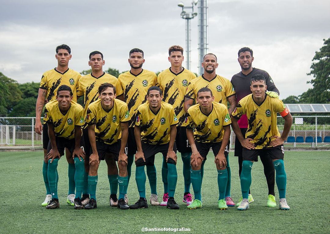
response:
[[[217,58],[214,54],[206,54],[203,59],[202,66],[204,68],[204,74],[193,79],[187,87],[187,91],[184,98],[184,110],[187,111],[188,108],[193,104],[194,99],[197,97],[197,92],[201,88],[207,87],[211,89],[214,95],[214,101],[222,103],[227,106],[227,101],[230,104],[228,109],[229,113],[232,113],[236,106],[236,95],[235,89],[230,83],[230,81],[220,75],[215,73],[215,69],[218,67]],[[229,150],[229,141],[228,141]],[[229,157],[227,156],[227,187],[225,200],[227,206],[235,206],[233,199],[230,196],[230,186],[231,186],[231,170],[229,166]],[[201,170],[201,177],[203,181],[203,167]]]

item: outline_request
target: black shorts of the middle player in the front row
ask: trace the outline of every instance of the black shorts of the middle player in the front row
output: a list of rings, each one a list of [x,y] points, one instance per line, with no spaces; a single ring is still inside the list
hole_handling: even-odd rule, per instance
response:
[[[151,145],[151,144],[146,144],[146,143],[141,142],[141,146],[142,146],[142,152],[144,154],[146,162],[144,162],[143,159],[139,159],[138,161],[135,162],[135,165],[136,166],[144,166],[144,165],[153,166],[154,161],[155,161],[155,154],[162,153],[163,157],[166,158],[169,143],[161,144],[161,145]],[[175,143],[173,146],[173,151],[175,153],[177,153],[177,147],[176,147]],[[173,159],[168,159],[167,163],[175,164]]]

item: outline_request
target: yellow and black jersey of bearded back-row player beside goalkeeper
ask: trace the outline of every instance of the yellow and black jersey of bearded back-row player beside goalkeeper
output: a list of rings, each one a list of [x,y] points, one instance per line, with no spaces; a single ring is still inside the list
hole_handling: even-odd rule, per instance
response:
[[[227,98],[235,95],[235,89],[228,79],[216,75],[209,81],[201,75],[188,84],[185,97],[196,99],[198,90],[204,87],[211,89],[215,102],[222,103],[226,106]]]

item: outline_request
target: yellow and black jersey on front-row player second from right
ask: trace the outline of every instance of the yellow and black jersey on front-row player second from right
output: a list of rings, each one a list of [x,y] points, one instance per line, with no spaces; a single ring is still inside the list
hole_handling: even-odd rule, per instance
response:
[[[188,109],[186,128],[194,128],[194,139],[197,142],[220,142],[223,138],[223,127],[230,125],[231,120],[227,106],[212,102],[212,111],[209,115],[203,114],[200,105],[196,104]]]

